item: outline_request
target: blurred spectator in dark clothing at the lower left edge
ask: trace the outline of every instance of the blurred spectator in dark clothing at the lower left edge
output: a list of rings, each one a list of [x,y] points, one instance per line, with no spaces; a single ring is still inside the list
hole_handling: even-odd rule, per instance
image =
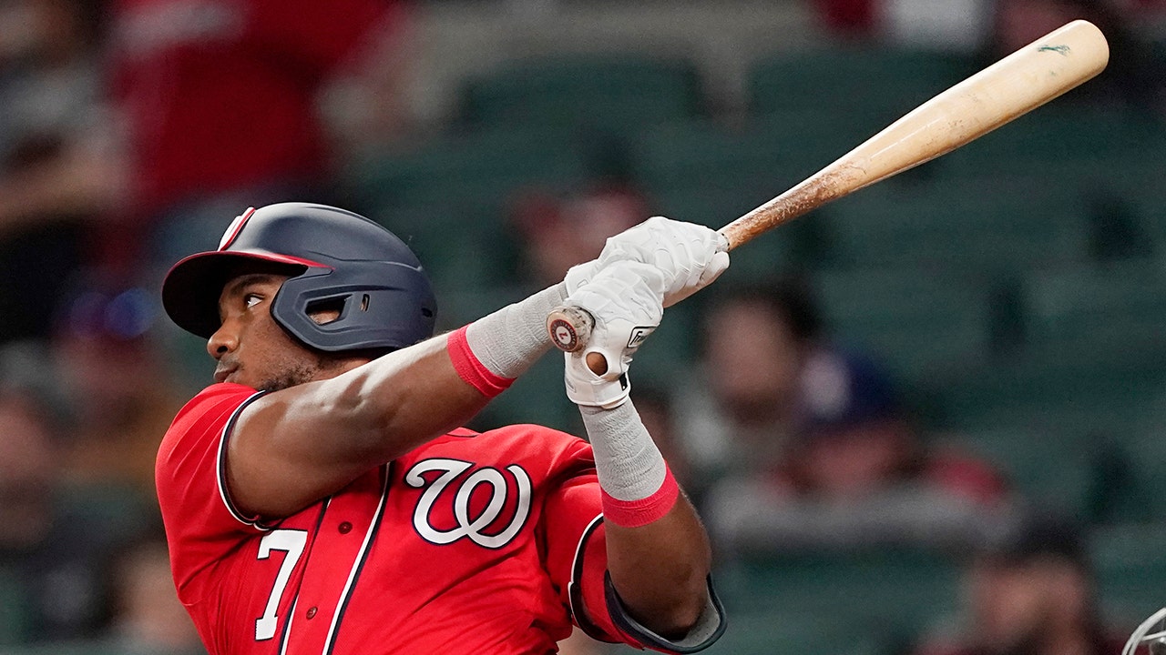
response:
[[[0,579],[16,589],[0,612],[19,617],[9,641],[93,636],[107,620],[110,557],[143,519],[64,484],[61,408],[43,354],[9,345],[0,371]]]

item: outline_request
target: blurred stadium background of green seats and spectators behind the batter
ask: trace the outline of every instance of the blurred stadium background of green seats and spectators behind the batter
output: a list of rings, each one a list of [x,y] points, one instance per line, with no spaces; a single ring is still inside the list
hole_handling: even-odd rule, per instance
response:
[[[201,653],[153,458],[212,368],[157,290],[248,205],[382,223],[454,329],[1076,17],[1102,76],[733,252],[633,399],[710,653],[1116,655],[1166,604],[1161,0],[0,0],[0,652]],[[581,434],[561,366],[473,427]]]

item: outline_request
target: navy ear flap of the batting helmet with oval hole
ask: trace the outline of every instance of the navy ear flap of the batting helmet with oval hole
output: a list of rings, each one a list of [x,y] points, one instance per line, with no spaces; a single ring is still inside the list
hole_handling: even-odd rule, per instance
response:
[[[333,311],[317,322],[314,314]],[[433,334],[436,302],[429,280],[395,262],[309,268],[283,282],[272,317],[309,347],[337,352],[401,348]]]

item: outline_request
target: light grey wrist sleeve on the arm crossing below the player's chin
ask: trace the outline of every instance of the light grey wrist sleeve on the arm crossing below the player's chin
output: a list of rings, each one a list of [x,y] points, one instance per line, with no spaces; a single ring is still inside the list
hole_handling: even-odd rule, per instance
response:
[[[465,340],[491,373],[513,380],[550,350],[547,315],[563,304],[567,286],[560,282],[471,323]]]

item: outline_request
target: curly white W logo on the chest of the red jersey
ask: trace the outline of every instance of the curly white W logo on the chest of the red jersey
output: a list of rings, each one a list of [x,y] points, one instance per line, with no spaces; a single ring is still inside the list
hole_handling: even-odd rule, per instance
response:
[[[424,459],[414,464],[405,474],[405,483],[410,487],[428,487],[422,492],[413,512],[413,528],[421,538],[436,545],[469,538],[483,548],[498,549],[510,543],[526,524],[526,519],[531,514],[531,477],[518,464],[506,467],[518,492],[518,498],[511,502],[507,502],[511,499],[511,478],[498,469],[486,466],[462,480],[454,494],[452,507],[447,507],[444,503],[440,508],[435,507],[445,487],[472,466],[472,463],[459,459]],[[430,483],[423,476],[430,471],[442,473]],[[484,507],[480,495],[471,503],[473,492],[479,485],[489,485],[491,488],[490,500]],[[497,523],[506,507],[512,508],[513,515],[510,522],[501,527]],[[477,515],[471,517],[471,512]]]

